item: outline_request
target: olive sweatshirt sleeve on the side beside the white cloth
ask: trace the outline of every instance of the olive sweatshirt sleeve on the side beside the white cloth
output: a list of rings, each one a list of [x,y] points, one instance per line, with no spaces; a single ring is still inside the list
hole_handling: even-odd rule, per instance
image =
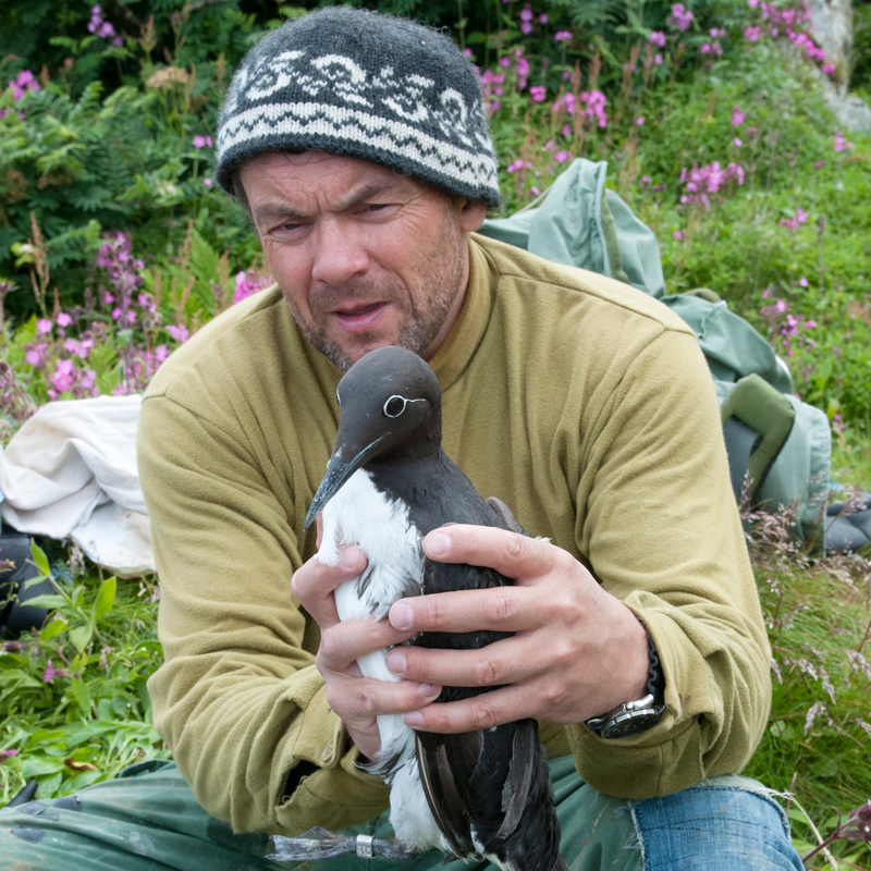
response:
[[[317,626],[291,591],[302,557],[287,507],[230,429],[165,395],[143,403],[165,658],[148,684],[155,727],[197,801],[234,831],[342,829],[380,813],[389,793],[345,748],[309,652]],[[314,773],[286,796],[302,761]]]

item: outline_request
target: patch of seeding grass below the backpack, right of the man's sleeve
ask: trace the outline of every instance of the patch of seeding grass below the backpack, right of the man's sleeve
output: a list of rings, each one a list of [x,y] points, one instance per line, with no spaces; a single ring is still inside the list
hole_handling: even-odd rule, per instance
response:
[[[871,482],[867,465],[866,473]],[[789,540],[789,511],[745,519],[774,689],[768,729],[745,773],[793,794],[794,842],[805,854],[818,844],[812,826],[831,831],[835,809],[851,810],[871,795],[871,562],[856,555],[811,560]],[[869,845],[836,842],[830,849],[857,868],[871,860]],[[824,863],[820,854],[809,867]]]

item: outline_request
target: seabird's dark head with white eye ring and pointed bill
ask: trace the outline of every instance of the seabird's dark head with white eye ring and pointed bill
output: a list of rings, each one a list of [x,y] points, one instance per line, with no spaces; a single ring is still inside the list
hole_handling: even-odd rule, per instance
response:
[[[441,445],[441,388],[424,359],[380,347],[352,366],[336,391],[342,414],[333,454],[305,528],[361,466],[388,452],[436,453]]]

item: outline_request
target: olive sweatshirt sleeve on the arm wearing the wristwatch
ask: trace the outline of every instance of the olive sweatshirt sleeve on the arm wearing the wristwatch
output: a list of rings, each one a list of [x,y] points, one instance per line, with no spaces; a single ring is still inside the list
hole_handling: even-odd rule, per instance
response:
[[[650,630],[665,712],[616,740],[571,727],[578,770],[635,799],[739,772],[768,720],[771,651],[695,336],[666,329],[649,342],[585,441],[578,545]]]

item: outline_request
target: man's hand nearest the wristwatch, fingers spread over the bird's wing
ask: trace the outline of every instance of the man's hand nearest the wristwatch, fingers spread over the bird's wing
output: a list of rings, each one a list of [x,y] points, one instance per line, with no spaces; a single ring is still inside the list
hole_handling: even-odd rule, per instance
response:
[[[581,723],[647,692],[643,626],[566,551],[515,532],[462,525],[433,530],[424,550],[437,562],[490,566],[515,578],[516,586],[400,600],[390,611],[397,631],[515,635],[480,650],[392,650],[388,666],[402,677],[500,687],[406,713],[409,726],[471,732],[527,716]]]

